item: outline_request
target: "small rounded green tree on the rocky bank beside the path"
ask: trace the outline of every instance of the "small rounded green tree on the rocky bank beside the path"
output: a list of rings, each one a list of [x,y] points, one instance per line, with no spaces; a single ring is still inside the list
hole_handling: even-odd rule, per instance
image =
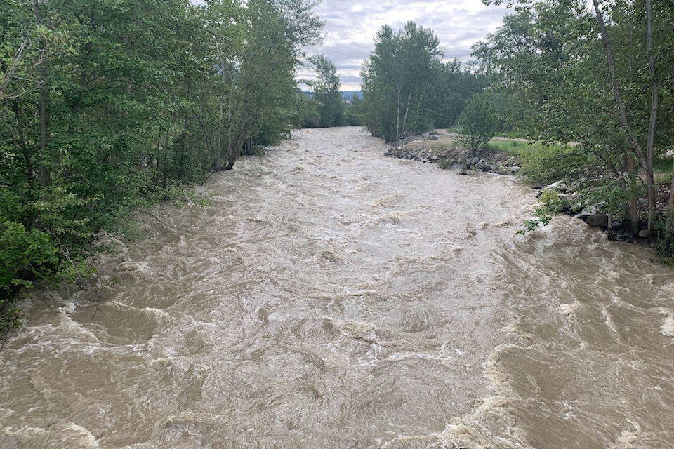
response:
[[[494,105],[484,95],[475,95],[463,107],[463,111],[458,117],[461,133],[456,138],[462,145],[470,149],[471,157],[475,157],[477,150],[487,145],[487,142],[494,137],[498,129],[498,123],[498,115]]]

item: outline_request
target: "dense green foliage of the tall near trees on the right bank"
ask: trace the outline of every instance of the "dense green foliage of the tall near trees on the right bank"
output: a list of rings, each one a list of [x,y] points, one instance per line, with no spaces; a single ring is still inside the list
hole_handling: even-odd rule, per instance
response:
[[[674,4],[510,3],[515,13],[474,47],[506,126],[531,140],[576,142],[575,160],[588,164],[576,181],[622,201],[629,226],[653,236],[654,160],[674,143]]]

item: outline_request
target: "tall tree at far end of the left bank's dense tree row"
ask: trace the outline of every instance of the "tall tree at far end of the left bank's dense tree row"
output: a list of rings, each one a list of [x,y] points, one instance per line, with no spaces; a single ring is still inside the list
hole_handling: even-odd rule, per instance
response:
[[[323,22],[313,13],[314,1],[250,0],[249,29],[242,53],[231,67],[234,80],[227,119],[226,165],[233,168],[244,142],[263,145],[289,135],[294,107],[295,67],[301,48],[319,41]]]

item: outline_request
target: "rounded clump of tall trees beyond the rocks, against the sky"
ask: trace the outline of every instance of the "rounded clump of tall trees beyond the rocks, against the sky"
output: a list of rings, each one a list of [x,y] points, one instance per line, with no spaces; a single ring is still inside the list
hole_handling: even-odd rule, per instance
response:
[[[408,22],[403,30],[384,25],[364,62],[360,117],[373,135],[386,141],[454,124],[463,103],[484,83],[442,62],[440,41],[430,29]]]

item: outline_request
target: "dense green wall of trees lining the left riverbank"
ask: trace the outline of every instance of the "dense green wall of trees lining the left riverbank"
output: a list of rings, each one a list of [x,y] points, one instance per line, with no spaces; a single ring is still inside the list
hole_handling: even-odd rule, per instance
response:
[[[288,135],[308,0],[5,0],[0,321],[101,229]]]

